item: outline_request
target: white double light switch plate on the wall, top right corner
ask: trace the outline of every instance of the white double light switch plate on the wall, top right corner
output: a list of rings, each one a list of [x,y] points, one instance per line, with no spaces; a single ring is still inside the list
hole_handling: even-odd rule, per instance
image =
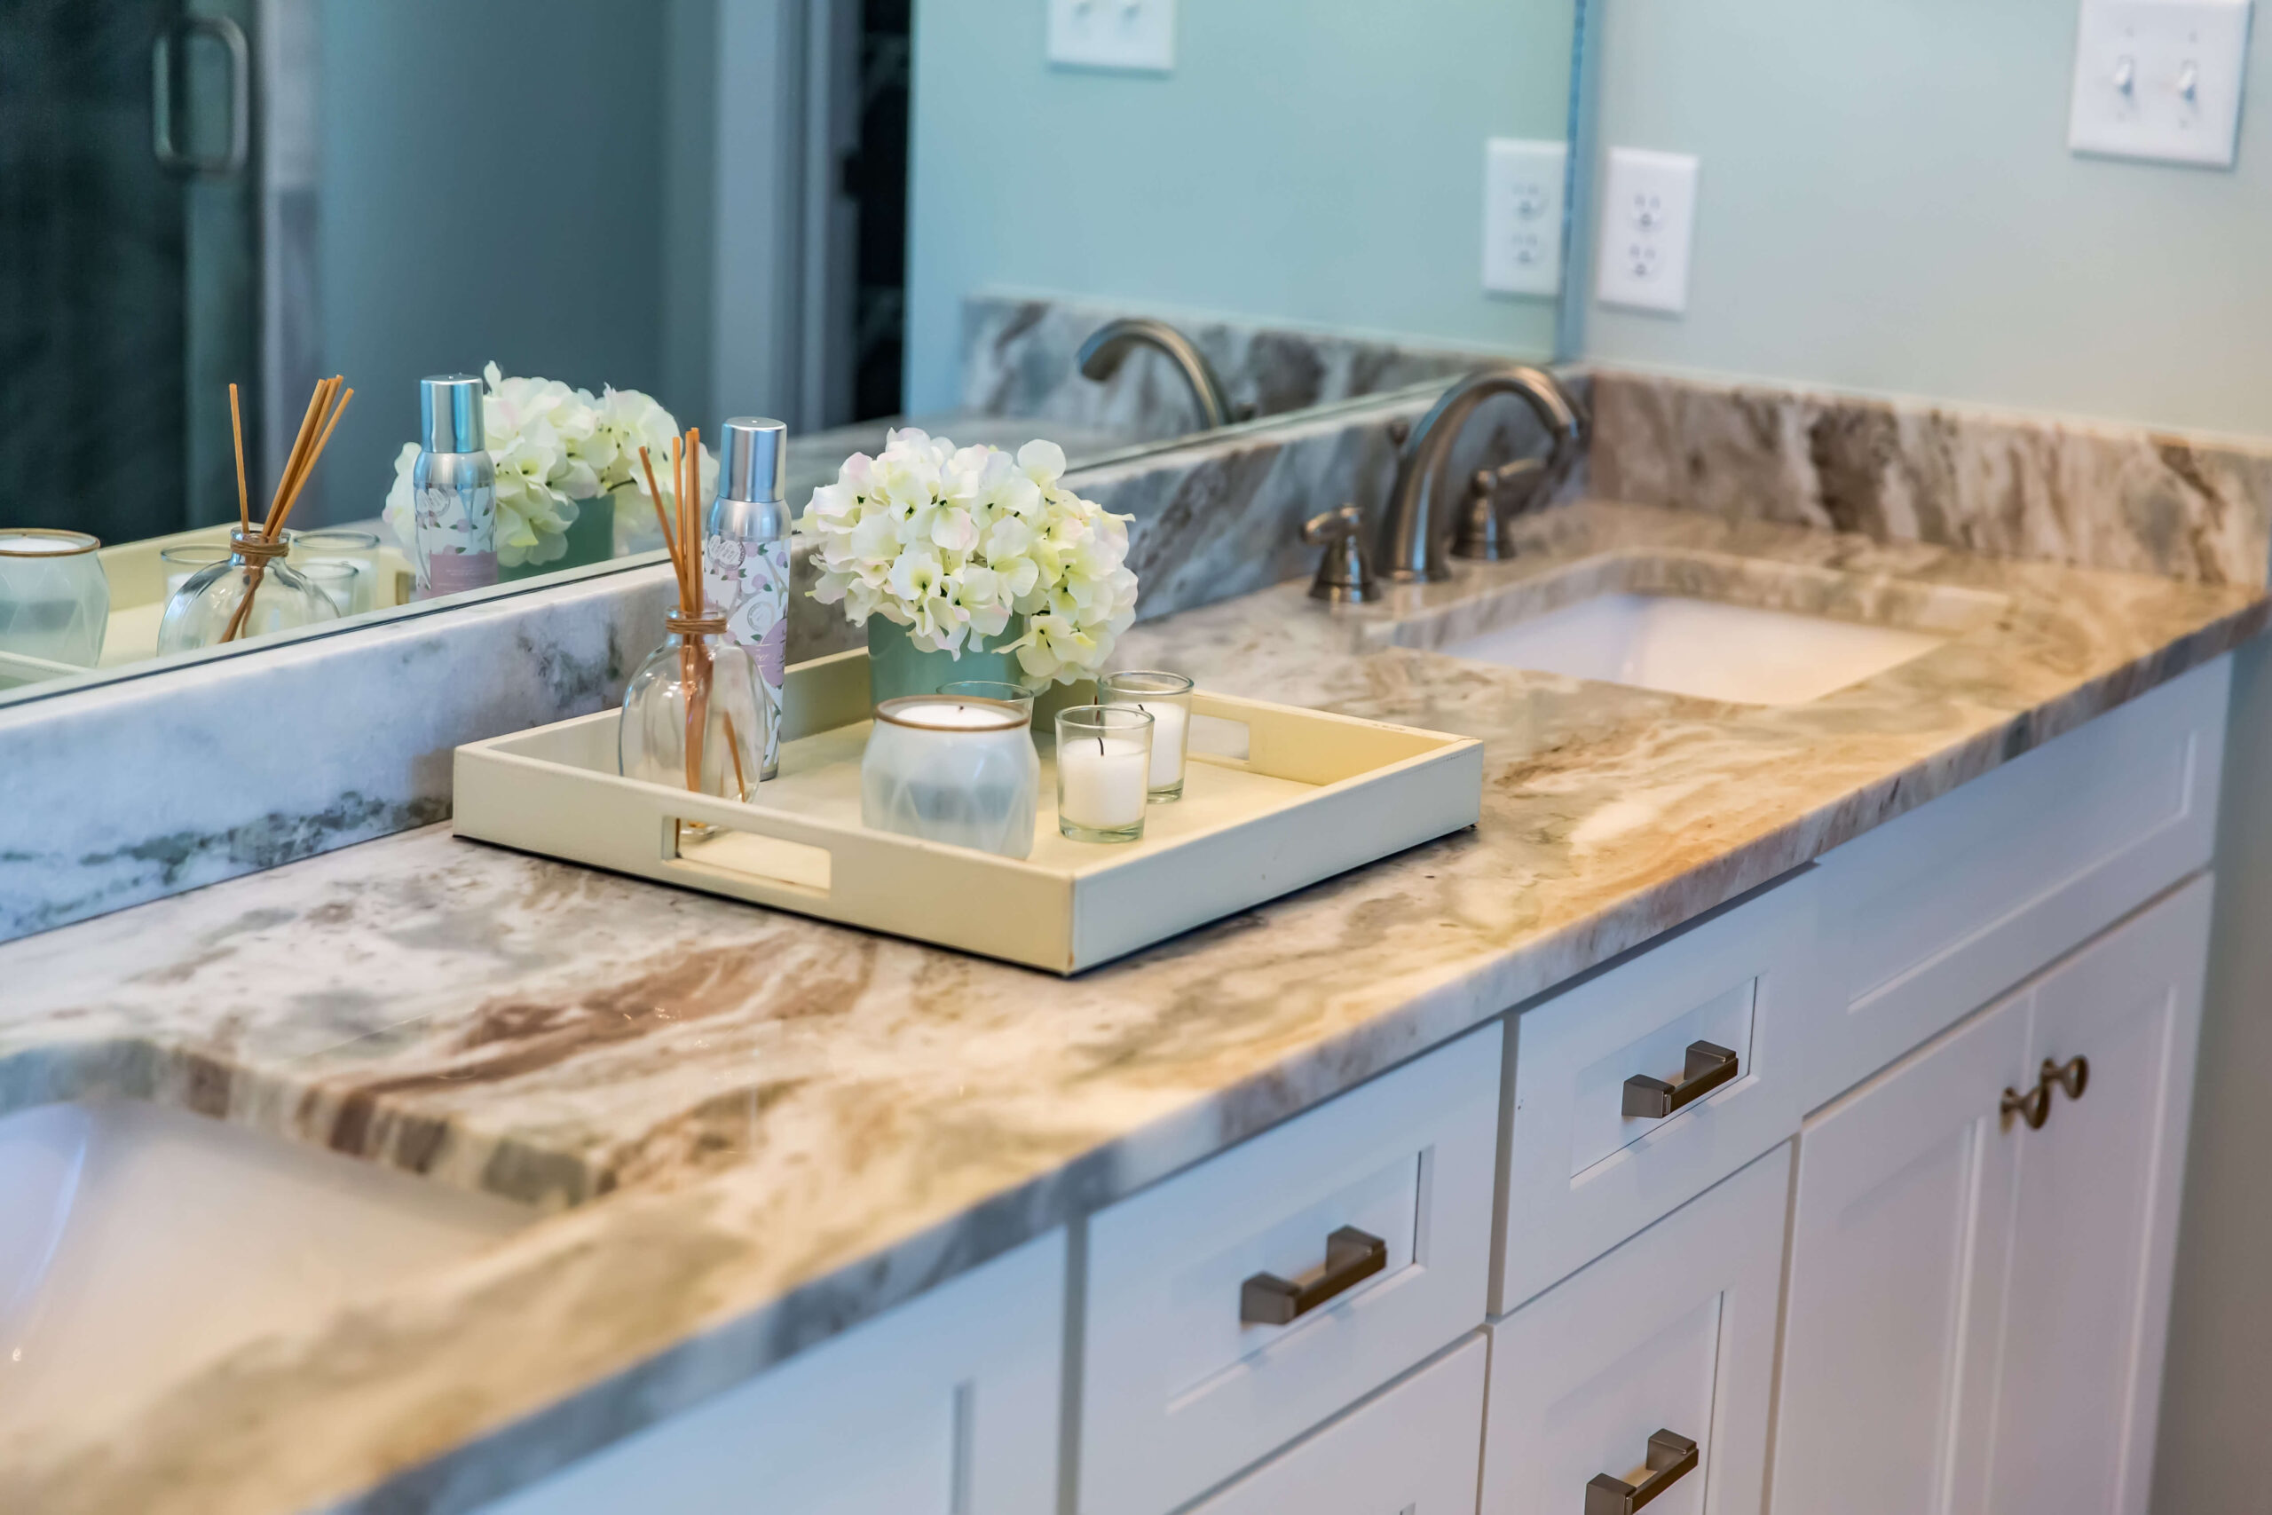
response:
[[[2249,0],[2083,0],[2068,148],[2231,168]]]

